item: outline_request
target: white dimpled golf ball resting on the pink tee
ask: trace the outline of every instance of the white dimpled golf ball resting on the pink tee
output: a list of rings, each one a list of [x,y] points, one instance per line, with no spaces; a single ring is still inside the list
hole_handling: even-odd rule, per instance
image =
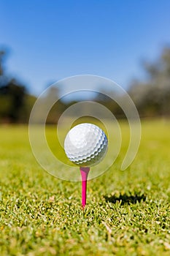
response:
[[[107,153],[108,140],[104,131],[94,124],[78,124],[70,129],[64,140],[66,156],[74,164],[96,165]]]

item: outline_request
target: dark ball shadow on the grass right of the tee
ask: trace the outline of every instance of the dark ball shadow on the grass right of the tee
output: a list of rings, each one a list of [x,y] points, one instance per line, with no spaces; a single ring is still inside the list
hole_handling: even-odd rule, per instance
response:
[[[131,194],[123,194],[123,195],[111,195],[111,196],[104,196],[105,200],[109,203],[120,203],[121,205],[124,205],[125,203],[130,205],[131,203],[135,204],[137,202],[145,201],[146,200],[146,195],[131,195]]]

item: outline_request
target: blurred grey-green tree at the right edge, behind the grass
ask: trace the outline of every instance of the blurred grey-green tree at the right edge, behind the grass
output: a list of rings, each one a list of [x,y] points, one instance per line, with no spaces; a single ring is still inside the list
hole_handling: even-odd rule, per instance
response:
[[[170,116],[170,48],[158,61],[144,63],[147,81],[134,80],[131,95],[141,116]]]

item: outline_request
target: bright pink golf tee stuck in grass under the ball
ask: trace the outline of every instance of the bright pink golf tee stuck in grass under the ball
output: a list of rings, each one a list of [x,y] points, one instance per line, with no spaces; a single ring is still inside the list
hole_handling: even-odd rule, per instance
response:
[[[86,194],[87,194],[87,180],[90,167],[80,167],[80,173],[82,176],[82,208],[86,205]]]

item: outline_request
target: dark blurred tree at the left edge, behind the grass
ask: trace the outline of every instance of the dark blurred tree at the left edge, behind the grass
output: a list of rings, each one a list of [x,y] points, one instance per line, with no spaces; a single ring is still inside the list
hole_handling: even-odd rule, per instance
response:
[[[0,50],[0,123],[27,123],[36,97],[4,72],[6,52]]]

